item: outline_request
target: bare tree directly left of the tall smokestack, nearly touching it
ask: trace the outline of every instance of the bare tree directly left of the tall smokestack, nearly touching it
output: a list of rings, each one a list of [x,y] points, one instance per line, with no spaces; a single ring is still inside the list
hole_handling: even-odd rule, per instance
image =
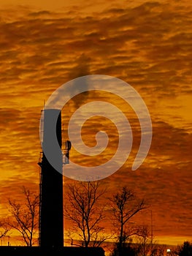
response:
[[[27,246],[32,246],[39,225],[39,195],[35,195],[25,187],[23,187],[23,195],[25,197],[23,204],[9,199],[9,211],[13,219],[9,219],[8,225],[18,230]]]

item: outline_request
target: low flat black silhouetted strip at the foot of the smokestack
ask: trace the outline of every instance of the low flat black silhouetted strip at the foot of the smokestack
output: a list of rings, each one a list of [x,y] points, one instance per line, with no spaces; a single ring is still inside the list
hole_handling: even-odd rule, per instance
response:
[[[104,256],[101,247],[63,247],[60,249],[39,246],[0,246],[0,256]]]

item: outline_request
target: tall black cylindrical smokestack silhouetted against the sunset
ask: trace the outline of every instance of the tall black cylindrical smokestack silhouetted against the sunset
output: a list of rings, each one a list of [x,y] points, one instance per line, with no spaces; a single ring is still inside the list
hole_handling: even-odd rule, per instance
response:
[[[55,136],[55,122],[56,137],[60,148],[62,144],[61,111],[55,109],[43,111],[42,143],[46,144],[46,147],[49,147],[48,151],[51,152]],[[64,246],[62,154],[56,154],[55,160],[61,169],[60,173],[50,165],[50,162],[45,157],[45,153],[42,152],[42,162],[39,163],[41,167],[39,246],[60,248]]]

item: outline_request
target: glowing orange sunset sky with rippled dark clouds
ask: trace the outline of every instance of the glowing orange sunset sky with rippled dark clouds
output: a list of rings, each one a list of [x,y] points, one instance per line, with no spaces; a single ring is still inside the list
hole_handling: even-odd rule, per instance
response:
[[[129,83],[145,100],[153,140],[145,162],[132,171],[140,140],[138,119],[120,99],[102,95],[129,116],[134,144],[126,163],[101,183],[109,195],[127,185],[145,197],[153,211],[155,240],[192,240],[191,24],[192,3],[187,0],[0,0],[1,218],[7,217],[7,198],[17,198],[21,186],[38,192],[44,101],[74,78],[110,75]],[[80,95],[66,105],[64,136],[74,110],[96,97],[101,95]],[[93,146],[95,140],[88,138],[99,129],[97,124],[101,129],[106,124],[109,147],[92,159],[72,148],[74,161],[92,166],[114,154],[117,131],[107,119],[91,118],[82,138]],[[136,222],[150,225],[149,212]]]

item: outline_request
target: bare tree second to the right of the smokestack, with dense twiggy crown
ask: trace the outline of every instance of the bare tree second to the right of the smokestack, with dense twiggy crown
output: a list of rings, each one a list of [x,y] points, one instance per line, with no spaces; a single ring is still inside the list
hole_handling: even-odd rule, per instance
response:
[[[130,236],[137,235],[138,229],[131,228],[130,219],[133,218],[139,211],[146,208],[145,201],[139,199],[134,192],[127,187],[123,187],[120,192],[117,192],[112,199],[112,214],[114,217],[114,226],[118,235],[118,247],[122,249]]]

